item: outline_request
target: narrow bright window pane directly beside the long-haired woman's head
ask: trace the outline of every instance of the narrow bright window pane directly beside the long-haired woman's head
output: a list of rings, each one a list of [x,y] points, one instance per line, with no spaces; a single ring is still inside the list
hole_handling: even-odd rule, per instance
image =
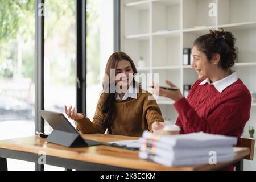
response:
[[[113,0],[88,0],[86,5],[86,114],[91,121],[102,90],[106,62],[114,50],[113,5]]]

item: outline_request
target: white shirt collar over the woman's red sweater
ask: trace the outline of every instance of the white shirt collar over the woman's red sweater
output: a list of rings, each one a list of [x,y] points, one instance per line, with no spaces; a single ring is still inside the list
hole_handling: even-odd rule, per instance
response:
[[[232,85],[234,82],[237,81],[237,72],[234,71],[231,75],[222,78],[221,80],[218,80],[216,82],[210,83],[210,79],[206,78],[204,81],[202,81],[199,85],[204,85],[206,83],[213,85],[218,92],[222,92],[225,88],[227,88],[228,86]]]

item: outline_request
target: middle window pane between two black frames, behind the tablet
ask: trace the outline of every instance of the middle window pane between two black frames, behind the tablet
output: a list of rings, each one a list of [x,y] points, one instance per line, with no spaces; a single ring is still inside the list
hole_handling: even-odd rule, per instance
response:
[[[45,1],[44,109],[64,113],[64,105],[76,106],[75,0]],[[71,121],[72,122],[72,121]],[[44,132],[52,127],[45,121]],[[47,170],[64,168],[46,165]]]

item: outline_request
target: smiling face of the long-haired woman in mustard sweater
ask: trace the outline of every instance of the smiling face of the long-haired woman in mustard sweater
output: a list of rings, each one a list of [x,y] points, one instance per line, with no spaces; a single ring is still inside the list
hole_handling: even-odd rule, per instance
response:
[[[129,86],[133,81],[133,73],[130,61],[118,61],[115,67],[115,84]]]

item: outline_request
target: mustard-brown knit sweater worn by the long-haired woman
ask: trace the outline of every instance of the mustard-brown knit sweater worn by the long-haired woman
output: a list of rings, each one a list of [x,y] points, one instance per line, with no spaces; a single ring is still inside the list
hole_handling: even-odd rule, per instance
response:
[[[129,97],[127,100],[115,100],[116,114],[112,126],[108,129],[108,134],[141,137],[144,130],[152,131],[153,122],[164,122],[156,100],[148,99],[149,96],[152,97],[149,92],[139,92],[137,99]],[[105,133],[104,114],[100,107],[102,100],[101,94],[93,122],[86,117],[76,121],[77,129],[82,133]]]

